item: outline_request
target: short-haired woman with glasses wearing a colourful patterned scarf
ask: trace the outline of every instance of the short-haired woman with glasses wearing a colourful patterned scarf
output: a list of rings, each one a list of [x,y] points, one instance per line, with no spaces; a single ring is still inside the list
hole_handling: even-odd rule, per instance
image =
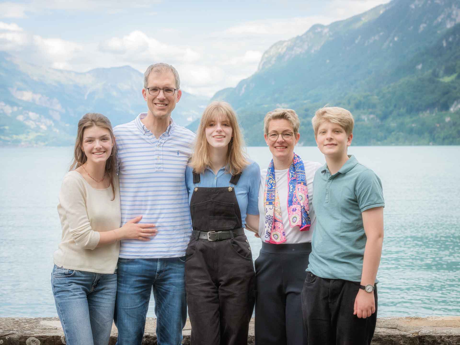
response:
[[[255,261],[257,300],[255,340],[258,345],[307,344],[300,293],[315,226],[311,196],[313,177],[322,165],[294,153],[299,117],[292,109],[265,115],[264,137],[273,159],[261,171],[259,236]]]

